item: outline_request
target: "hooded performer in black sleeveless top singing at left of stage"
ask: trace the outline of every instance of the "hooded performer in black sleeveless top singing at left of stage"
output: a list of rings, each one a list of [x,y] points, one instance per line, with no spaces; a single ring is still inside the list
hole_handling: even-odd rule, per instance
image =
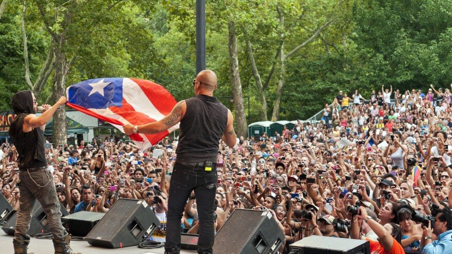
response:
[[[44,129],[59,106],[67,102],[61,97],[58,102],[42,105],[41,116],[35,116],[37,103],[31,91],[20,91],[12,98],[12,108],[16,117],[11,123],[9,135],[17,148],[19,157],[19,180],[17,185],[21,193],[20,209],[14,233],[14,254],[26,254],[30,236],[31,211],[34,203],[39,201],[47,214],[50,230],[52,231],[55,254],[73,254],[69,247],[70,236],[61,224],[60,202],[56,196],[52,173],[47,169],[44,150]]]

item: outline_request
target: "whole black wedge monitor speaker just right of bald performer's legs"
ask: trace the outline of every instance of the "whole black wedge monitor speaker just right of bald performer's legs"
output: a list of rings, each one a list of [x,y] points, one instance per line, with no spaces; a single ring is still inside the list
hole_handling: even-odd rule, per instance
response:
[[[215,254],[276,253],[285,236],[267,210],[235,209],[215,236]]]

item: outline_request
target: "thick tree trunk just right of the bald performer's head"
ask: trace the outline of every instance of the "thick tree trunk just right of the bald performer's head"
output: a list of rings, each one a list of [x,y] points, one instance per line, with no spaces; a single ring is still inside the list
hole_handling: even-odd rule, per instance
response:
[[[234,94],[237,136],[248,136],[247,118],[243,107],[242,84],[238,69],[237,33],[233,22],[229,22],[229,73],[231,75],[232,91]]]

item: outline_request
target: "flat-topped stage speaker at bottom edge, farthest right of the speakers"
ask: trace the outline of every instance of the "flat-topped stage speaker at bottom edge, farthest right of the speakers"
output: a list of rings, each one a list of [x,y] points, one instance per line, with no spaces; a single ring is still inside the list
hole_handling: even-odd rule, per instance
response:
[[[370,254],[370,243],[364,240],[310,236],[290,245],[298,254]]]

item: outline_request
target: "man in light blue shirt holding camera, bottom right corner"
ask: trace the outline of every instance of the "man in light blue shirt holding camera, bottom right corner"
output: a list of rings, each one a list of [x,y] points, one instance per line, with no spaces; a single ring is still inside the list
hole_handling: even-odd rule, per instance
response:
[[[438,240],[433,241],[433,234]],[[452,211],[448,208],[439,210],[434,225],[431,220],[424,226],[421,237],[421,250],[424,254],[452,253]]]

